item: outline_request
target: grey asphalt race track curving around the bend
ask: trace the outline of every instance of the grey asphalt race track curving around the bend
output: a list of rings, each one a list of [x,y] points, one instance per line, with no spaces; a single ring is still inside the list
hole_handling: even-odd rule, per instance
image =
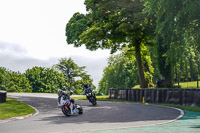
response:
[[[117,128],[130,128],[167,123],[179,117],[179,110],[154,105],[97,101],[97,106],[84,100],[75,102],[83,114],[65,117],[57,108],[53,94],[8,94],[39,110],[39,114],[0,124],[0,133],[65,133]]]

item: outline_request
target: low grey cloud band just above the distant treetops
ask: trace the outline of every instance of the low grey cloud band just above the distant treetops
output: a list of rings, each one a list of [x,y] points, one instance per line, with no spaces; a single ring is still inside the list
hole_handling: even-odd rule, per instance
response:
[[[93,84],[98,86],[98,82],[103,74],[103,69],[107,64],[107,56],[102,55],[95,57],[97,54],[100,54],[101,51],[88,51],[88,53],[88,56],[72,55],[64,57],[71,57],[78,66],[86,66],[85,70],[87,71],[87,74],[91,75]],[[59,62],[59,59],[64,57],[38,59],[28,56],[26,49],[18,44],[0,42],[0,67],[5,67],[16,72],[19,71],[23,73],[28,68],[32,68],[34,66],[52,67],[52,65]]]

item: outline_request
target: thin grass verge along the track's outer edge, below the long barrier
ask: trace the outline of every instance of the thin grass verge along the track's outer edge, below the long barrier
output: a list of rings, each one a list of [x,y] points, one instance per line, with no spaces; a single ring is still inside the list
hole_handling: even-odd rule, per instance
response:
[[[96,97],[97,97],[97,101],[141,103],[141,102],[134,102],[134,101],[124,101],[124,100],[109,99],[109,96],[96,96]],[[73,99],[76,99],[76,100],[87,100],[86,97],[73,97]],[[145,104],[151,104],[151,103],[145,103]],[[179,109],[182,109],[182,110],[200,112],[200,107],[183,106],[183,105],[178,105],[178,104],[154,104],[154,103],[152,103],[152,105],[169,106],[169,107],[179,108]]]

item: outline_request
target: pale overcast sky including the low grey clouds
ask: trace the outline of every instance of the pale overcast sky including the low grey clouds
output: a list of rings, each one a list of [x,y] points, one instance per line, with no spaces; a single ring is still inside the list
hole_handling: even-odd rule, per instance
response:
[[[86,13],[84,0],[0,0],[0,67],[25,72],[51,67],[71,57],[86,66],[97,86],[109,50],[89,51],[67,45],[65,26],[76,12]]]

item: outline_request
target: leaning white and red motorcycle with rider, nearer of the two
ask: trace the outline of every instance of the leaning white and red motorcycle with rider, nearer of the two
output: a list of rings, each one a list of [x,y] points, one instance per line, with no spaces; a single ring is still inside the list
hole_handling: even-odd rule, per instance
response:
[[[73,90],[68,91],[59,89],[58,93],[58,107],[61,108],[62,112],[66,116],[77,115],[83,113],[83,108],[79,104],[75,104],[74,99],[71,99]]]

